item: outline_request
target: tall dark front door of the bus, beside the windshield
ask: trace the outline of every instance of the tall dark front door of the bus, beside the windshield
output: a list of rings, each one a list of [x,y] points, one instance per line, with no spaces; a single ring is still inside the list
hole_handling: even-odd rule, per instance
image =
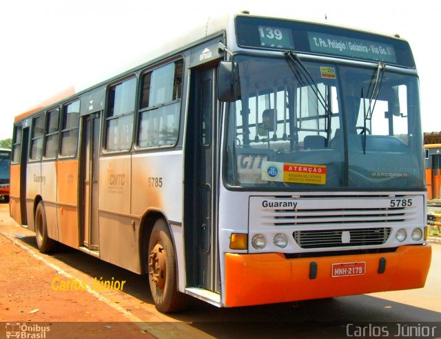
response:
[[[192,70],[185,146],[184,213],[187,283],[219,293],[216,70]]]

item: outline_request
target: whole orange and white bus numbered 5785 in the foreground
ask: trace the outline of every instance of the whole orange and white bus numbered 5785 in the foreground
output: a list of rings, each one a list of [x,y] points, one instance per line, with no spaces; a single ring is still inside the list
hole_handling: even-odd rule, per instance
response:
[[[10,211],[147,274],[156,307],[423,287],[427,192],[407,41],[247,13],[15,119]]]

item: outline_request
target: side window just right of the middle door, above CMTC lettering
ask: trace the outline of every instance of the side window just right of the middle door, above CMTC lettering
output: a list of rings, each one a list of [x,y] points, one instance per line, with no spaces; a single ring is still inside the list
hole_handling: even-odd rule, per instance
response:
[[[105,149],[130,150],[132,146],[136,78],[110,88],[107,96]]]

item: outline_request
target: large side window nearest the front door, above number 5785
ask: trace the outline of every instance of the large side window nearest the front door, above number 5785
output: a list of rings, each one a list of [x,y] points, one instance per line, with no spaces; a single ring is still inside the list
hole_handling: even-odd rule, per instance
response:
[[[139,147],[174,145],[178,141],[183,60],[143,74],[139,105]]]

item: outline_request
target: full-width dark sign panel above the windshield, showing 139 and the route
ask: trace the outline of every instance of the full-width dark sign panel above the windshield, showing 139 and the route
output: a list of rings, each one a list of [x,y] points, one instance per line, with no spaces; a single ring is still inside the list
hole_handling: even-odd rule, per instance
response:
[[[294,50],[415,68],[407,41],[320,23],[238,15],[236,41],[241,48]]]

